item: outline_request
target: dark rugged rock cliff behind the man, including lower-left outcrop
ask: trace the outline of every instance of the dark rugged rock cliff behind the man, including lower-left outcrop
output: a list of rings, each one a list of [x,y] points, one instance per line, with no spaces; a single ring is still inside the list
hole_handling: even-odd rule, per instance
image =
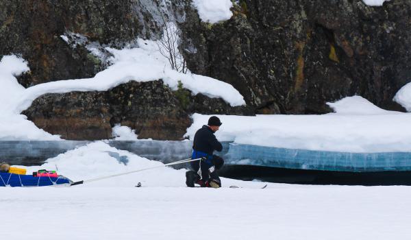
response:
[[[140,138],[181,139],[190,114],[308,114],[327,101],[361,95],[377,106],[392,101],[411,76],[411,1],[370,7],[360,0],[241,0],[228,21],[200,21],[190,0],[0,1],[0,57],[16,53],[31,71],[25,87],[91,77],[105,63],[66,32],[121,48],[137,37],[158,38],[160,15],[182,29],[180,49],[193,73],[232,84],[247,107],[171,91],[160,81],[122,84],[107,92],[49,94],[23,114],[64,139],[108,139],[117,123]]]

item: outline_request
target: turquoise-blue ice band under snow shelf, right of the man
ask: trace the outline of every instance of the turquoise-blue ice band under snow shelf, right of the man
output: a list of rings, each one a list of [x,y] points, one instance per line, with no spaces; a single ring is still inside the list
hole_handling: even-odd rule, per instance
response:
[[[327,171],[410,171],[411,152],[349,153],[230,144],[226,163]]]

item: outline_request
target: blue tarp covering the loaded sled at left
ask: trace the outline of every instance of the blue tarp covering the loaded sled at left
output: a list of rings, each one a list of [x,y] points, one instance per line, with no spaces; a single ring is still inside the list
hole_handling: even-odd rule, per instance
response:
[[[71,183],[71,180],[64,176],[50,178],[34,177],[32,175],[18,175],[14,173],[0,173],[0,187],[44,187]]]

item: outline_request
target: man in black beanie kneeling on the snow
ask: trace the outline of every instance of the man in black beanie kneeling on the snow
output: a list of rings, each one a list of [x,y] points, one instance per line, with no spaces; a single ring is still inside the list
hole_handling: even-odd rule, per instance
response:
[[[203,125],[195,133],[191,158],[202,159],[190,163],[194,171],[186,172],[187,187],[194,187],[194,184],[199,184],[201,187],[221,187],[221,180],[216,170],[223,167],[224,160],[212,154],[214,150],[219,152],[223,150],[223,145],[214,136],[214,132],[219,130],[221,124],[218,117],[212,116],[208,119],[208,125]]]

